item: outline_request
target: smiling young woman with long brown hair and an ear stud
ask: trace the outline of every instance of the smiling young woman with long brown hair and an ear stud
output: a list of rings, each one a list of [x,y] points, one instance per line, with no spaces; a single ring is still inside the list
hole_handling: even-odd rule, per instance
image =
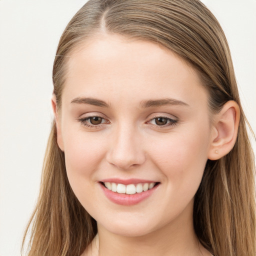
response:
[[[201,2],[88,1],[53,85],[29,256],[255,255],[246,119]]]

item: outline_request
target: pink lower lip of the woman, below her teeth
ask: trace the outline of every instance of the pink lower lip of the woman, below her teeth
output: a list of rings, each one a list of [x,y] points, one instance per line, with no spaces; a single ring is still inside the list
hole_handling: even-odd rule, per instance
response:
[[[137,204],[147,197],[149,197],[159,184],[155,185],[153,188],[148,189],[146,191],[135,193],[135,194],[121,194],[117,192],[113,192],[107,189],[104,185],[100,184],[105,196],[112,202],[121,205],[134,205]]]

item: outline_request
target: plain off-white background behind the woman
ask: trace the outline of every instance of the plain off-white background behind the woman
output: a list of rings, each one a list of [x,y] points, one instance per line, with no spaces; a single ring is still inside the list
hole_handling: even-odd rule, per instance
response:
[[[0,256],[20,255],[52,119],[57,42],[85,1],[0,0]],[[256,0],[203,2],[226,33],[242,104],[256,132]]]

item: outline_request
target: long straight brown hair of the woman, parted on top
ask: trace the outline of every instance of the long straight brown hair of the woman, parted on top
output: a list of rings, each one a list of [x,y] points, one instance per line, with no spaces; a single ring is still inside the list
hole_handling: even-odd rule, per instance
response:
[[[253,153],[228,44],[216,18],[199,0],[88,1],[68,23],[58,44],[52,75],[58,108],[68,54],[102,31],[153,41],[178,54],[200,74],[211,112],[218,112],[228,100],[238,103],[237,140],[227,155],[207,161],[195,194],[193,222],[199,241],[212,254],[255,256]],[[53,121],[39,199],[23,245],[29,234],[28,256],[78,256],[96,232],[95,220],[68,183]]]

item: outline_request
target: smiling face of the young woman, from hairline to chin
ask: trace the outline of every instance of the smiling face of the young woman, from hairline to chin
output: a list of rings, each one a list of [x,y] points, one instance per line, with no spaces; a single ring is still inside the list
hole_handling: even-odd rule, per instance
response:
[[[86,41],[67,70],[58,144],[98,225],[135,236],[192,219],[211,143],[196,71],[155,43],[118,35]]]

